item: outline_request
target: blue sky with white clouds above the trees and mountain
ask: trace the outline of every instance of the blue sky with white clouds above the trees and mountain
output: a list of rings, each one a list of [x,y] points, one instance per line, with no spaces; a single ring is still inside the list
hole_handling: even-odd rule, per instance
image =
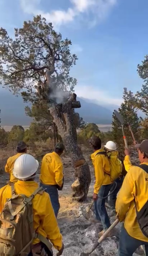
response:
[[[142,86],[137,64],[147,52],[147,0],[0,0],[0,26],[14,27],[41,14],[53,22],[79,60],[71,70],[78,96],[120,105],[123,87]]]

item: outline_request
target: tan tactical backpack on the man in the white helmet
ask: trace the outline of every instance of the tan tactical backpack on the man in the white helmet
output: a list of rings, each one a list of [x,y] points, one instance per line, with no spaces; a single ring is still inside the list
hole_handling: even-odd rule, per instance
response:
[[[36,194],[42,195],[43,188],[37,188],[27,197],[16,195],[14,184],[11,183],[11,192],[11,198],[6,201],[0,214],[0,255],[28,255],[32,241],[37,237],[49,246],[50,242],[45,237],[35,233],[33,225],[32,199]]]

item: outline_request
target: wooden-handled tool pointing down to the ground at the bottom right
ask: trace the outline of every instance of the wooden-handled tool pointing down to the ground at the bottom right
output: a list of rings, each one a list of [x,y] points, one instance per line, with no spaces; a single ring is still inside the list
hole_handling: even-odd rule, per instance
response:
[[[96,242],[91,250],[88,252],[81,252],[79,256],[89,256],[96,248],[97,246],[107,237],[107,235],[110,233],[110,231],[119,223],[119,219],[116,219],[113,224],[105,231],[105,233],[99,238],[98,242]]]

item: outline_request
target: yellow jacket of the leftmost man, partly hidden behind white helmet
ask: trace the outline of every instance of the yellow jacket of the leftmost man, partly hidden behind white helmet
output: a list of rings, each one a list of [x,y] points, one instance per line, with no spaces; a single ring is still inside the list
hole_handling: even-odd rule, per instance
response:
[[[5,172],[10,174],[10,182],[17,182],[18,179],[13,175],[13,168],[15,160],[24,153],[17,153],[14,156],[10,156],[5,165]]]

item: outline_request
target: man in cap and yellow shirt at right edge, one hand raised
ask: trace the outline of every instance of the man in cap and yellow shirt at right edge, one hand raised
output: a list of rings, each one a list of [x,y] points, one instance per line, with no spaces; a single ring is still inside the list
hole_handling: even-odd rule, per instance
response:
[[[139,212],[148,201],[148,139],[135,147],[138,148],[140,165],[131,165],[130,152],[125,149],[124,164],[128,173],[116,200],[117,215],[120,221],[124,221],[118,256],[132,256],[141,245],[145,245],[148,255],[148,237],[140,229],[135,210],[135,204]]]

